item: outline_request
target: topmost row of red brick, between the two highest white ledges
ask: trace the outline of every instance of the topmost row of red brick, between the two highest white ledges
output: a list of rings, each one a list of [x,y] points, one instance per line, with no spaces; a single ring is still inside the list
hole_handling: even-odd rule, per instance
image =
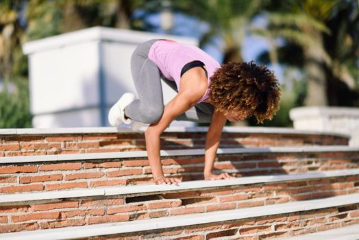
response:
[[[349,139],[330,135],[246,134],[223,132],[220,147],[347,145]],[[76,154],[145,150],[139,133],[0,135],[0,156]],[[164,132],[162,149],[203,148],[206,132]],[[275,164],[275,163],[273,163]]]

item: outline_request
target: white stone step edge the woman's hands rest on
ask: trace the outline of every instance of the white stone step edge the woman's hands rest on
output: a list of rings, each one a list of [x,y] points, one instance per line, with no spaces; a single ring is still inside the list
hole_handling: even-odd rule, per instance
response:
[[[271,182],[288,182],[292,180],[313,180],[319,178],[332,178],[342,176],[359,175],[359,169],[338,170],[338,171],[315,171],[311,173],[283,174],[273,176],[251,176],[229,180],[196,180],[181,182],[179,184],[142,184],[118,187],[101,187],[96,189],[73,189],[63,191],[47,191],[40,193],[12,193],[1,194],[0,204],[14,202],[54,200],[70,197],[93,197],[110,195],[144,195],[163,192],[175,192],[184,190],[209,189],[214,187],[232,187],[244,184],[258,184]]]

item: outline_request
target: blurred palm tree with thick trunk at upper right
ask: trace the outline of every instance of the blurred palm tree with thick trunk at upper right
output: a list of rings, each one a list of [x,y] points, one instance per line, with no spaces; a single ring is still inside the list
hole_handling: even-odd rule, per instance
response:
[[[269,24],[262,32],[301,47],[299,56],[303,61],[298,58],[297,62],[303,65],[307,78],[305,104],[345,105],[340,100],[343,95],[338,94],[338,86],[343,86],[343,82],[351,88],[356,85],[347,66],[350,62],[354,69],[358,59],[358,3],[292,0],[275,7],[269,9]],[[346,105],[352,104],[346,101]]]

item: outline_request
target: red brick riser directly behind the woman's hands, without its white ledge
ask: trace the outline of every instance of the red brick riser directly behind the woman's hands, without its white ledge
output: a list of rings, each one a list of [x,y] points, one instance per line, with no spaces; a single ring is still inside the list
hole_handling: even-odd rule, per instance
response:
[[[182,180],[203,179],[203,156],[162,158],[165,174]],[[291,154],[223,154],[214,170],[232,171],[236,177],[277,173],[355,169],[359,152]],[[53,191],[151,183],[147,158],[71,160],[0,165],[0,193]]]

